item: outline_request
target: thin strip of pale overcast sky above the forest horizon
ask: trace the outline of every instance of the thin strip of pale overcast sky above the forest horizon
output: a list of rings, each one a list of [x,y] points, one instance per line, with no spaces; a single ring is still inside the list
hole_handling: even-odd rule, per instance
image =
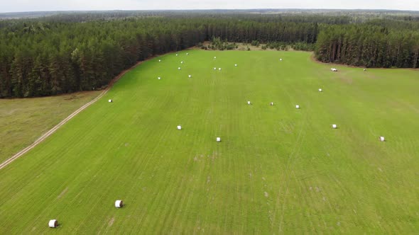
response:
[[[246,8],[338,8],[419,11],[419,0],[0,0],[0,12]]]

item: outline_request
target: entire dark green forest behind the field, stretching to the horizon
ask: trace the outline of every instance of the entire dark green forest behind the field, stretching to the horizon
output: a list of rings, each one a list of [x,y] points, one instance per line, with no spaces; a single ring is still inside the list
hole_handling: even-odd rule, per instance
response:
[[[26,15],[36,17],[0,20],[0,98],[101,89],[138,61],[213,38],[315,48],[321,62],[419,67],[417,12],[109,11],[5,17]]]

